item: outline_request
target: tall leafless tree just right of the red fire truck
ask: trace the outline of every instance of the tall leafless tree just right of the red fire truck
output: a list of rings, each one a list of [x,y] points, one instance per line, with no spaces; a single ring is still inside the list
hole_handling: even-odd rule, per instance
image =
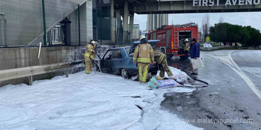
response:
[[[202,18],[202,25],[200,28],[200,32],[202,33],[202,39],[204,39],[204,43],[206,43],[206,38],[209,35],[209,27],[211,27],[209,20],[210,20],[209,14],[206,14]]]

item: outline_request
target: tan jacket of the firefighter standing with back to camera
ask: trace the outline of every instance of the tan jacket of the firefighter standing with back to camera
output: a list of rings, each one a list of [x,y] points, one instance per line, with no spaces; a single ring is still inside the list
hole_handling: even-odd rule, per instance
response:
[[[150,64],[151,61],[154,61],[154,51],[152,46],[149,43],[137,45],[134,54],[133,61],[138,63]]]

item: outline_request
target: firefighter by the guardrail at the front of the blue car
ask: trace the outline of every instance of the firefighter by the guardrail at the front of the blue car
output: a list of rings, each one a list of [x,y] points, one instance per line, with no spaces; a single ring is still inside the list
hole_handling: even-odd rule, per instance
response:
[[[94,40],[91,40],[91,42],[86,46],[86,51],[84,54],[86,74],[90,74],[93,68],[92,62],[95,57],[95,46],[96,42]]]

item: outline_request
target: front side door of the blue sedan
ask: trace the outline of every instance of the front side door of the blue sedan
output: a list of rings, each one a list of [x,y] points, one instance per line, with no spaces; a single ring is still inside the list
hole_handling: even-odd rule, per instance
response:
[[[112,73],[111,60],[113,50],[107,51],[104,57],[101,59],[101,71],[103,73]]]

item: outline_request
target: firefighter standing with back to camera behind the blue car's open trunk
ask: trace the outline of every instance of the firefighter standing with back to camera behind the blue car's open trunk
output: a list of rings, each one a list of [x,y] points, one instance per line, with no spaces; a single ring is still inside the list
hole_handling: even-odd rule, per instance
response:
[[[137,59],[139,81],[141,82],[141,85],[145,85],[149,72],[149,64],[154,63],[154,51],[144,35],[140,36],[140,41],[140,44],[137,45],[133,54],[133,64],[135,64]]]

